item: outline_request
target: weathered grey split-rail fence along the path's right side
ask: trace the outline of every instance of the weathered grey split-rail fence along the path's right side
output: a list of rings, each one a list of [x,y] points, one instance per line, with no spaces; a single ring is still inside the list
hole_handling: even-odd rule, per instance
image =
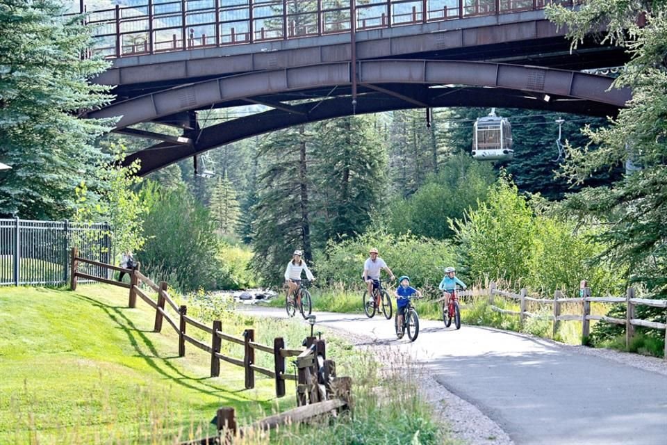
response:
[[[467,291],[470,292],[470,291]],[[553,334],[556,334],[556,331],[559,327],[559,322],[561,321],[581,321],[582,323],[582,344],[586,343],[588,335],[591,330],[591,320],[604,321],[605,323],[614,323],[616,325],[625,326],[625,346],[629,348],[632,337],[634,337],[635,327],[643,326],[650,329],[658,329],[665,331],[665,355],[664,358],[667,360],[667,324],[659,323],[657,321],[648,321],[641,320],[636,318],[635,308],[637,306],[650,306],[650,307],[660,307],[667,309],[667,300],[654,300],[649,298],[635,298],[635,290],[632,287],[627,289],[625,297],[593,297],[591,296],[591,289],[586,285],[585,281],[582,281],[581,289],[579,290],[579,298],[566,298],[563,296],[561,291],[554,292],[554,298],[532,298],[527,295],[526,289],[521,289],[520,293],[512,293],[508,291],[501,291],[496,289],[495,283],[491,282],[488,289],[483,291],[484,294],[488,295],[488,304],[491,307],[491,310],[494,312],[499,312],[500,314],[509,314],[516,315],[520,317],[520,323],[523,325],[527,318],[544,318],[553,321]],[[477,293],[479,295],[479,292]],[[459,293],[459,296],[465,296],[463,293]],[[501,309],[497,307],[495,303],[495,298],[507,298],[509,300],[519,302],[519,310],[512,311],[509,309]],[[552,314],[535,314],[527,310],[527,305],[529,303],[538,303],[543,305],[553,305]],[[625,318],[613,318],[605,315],[593,315],[591,314],[591,302],[604,302],[604,303],[625,303],[626,311]],[[568,303],[575,303],[581,305],[582,311],[579,314],[562,314],[561,305]]]

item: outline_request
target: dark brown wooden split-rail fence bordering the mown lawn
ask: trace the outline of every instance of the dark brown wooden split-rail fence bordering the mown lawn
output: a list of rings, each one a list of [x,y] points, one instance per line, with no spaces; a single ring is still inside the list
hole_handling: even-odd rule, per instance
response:
[[[99,266],[101,268],[108,268],[110,270],[127,273],[130,276],[130,283],[128,284],[124,282],[118,282],[103,277],[81,273],[79,272],[79,264],[90,264],[93,266]],[[301,388],[303,391],[306,391],[304,388],[306,388],[308,385],[308,379],[313,379],[313,375],[317,375],[319,372],[319,367],[318,369],[315,369],[315,365],[311,364],[312,360],[309,358],[311,356],[317,357],[309,352],[312,349],[312,345],[317,345],[316,348],[320,348],[318,349],[320,350],[320,355],[322,355],[323,359],[325,358],[323,340],[315,341],[315,339],[310,339],[310,343],[306,345],[308,346],[306,350],[288,349],[285,347],[285,341],[282,337],[275,338],[272,346],[263,345],[255,341],[255,332],[253,329],[245,330],[245,332],[242,334],[242,337],[234,337],[233,335],[222,332],[222,321],[220,320],[213,321],[211,326],[201,323],[201,321],[188,316],[188,307],[186,305],[176,305],[172,297],[169,295],[169,293],[167,293],[168,286],[166,282],[160,282],[158,285],[155,284],[149,277],[143,275],[140,272],[140,264],[138,264],[138,266],[133,269],[112,266],[110,264],[100,263],[99,261],[92,261],[90,259],[81,258],[77,255],[77,250],[72,249],[72,275],[70,286],[73,291],[76,290],[76,284],[79,278],[85,278],[86,280],[93,280],[106,284],[113,284],[114,286],[120,286],[129,289],[129,307],[136,307],[138,296],[141,298],[141,300],[146,302],[147,305],[155,309],[155,332],[161,332],[163,321],[167,321],[167,324],[172,327],[176,334],[178,334],[179,357],[184,357],[186,355],[186,343],[190,343],[192,346],[204,350],[211,355],[211,377],[217,377],[220,375],[220,360],[229,364],[240,366],[245,369],[246,389],[254,388],[255,373],[260,373],[275,380],[277,397],[285,396],[286,380],[297,381],[297,389]],[[147,291],[142,290],[142,286],[155,291],[157,293],[157,299],[153,300],[149,298]],[[169,308],[173,309],[177,315],[172,316],[168,310]],[[211,335],[211,343],[204,343],[203,341],[192,337],[189,334],[188,326],[204,331]],[[222,354],[222,341],[229,341],[231,343],[236,343],[240,346],[243,346],[243,357],[230,357],[229,355]],[[256,351],[272,354],[274,356],[273,369],[268,369],[256,365]],[[299,371],[296,375],[286,373],[286,359],[288,357],[297,357],[297,368],[299,363],[303,365],[302,368],[298,368]],[[312,366],[306,366],[306,362]],[[333,364],[333,362],[327,364],[327,366],[331,366],[331,364]],[[322,363],[322,366],[324,366],[324,362]],[[311,374],[310,377],[308,377],[309,373]],[[316,395],[313,397],[316,397]],[[301,400],[302,398],[299,396],[299,401]]]

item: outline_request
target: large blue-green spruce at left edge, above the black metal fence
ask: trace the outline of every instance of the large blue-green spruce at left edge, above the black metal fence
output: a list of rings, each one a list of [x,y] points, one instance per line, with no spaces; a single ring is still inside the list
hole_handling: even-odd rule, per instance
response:
[[[63,17],[61,3],[0,3],[0,214],[60,219],[74,213],[74,188],[94,177],[95,138],[110,120],[80,119],[109,102],[108,86],[88,79],[109,63],[82,58],[90,30]]]

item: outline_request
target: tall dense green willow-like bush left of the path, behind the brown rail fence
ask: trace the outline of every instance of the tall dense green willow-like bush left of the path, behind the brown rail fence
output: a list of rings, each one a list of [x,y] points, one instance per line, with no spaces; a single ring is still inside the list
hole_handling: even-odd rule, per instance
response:
[[[219,241],[208,209],[186,190],[165,191],[151,182],[141,191],[148,206],[146,243],[136,258],[154,280],[181,291],[216,289]]]

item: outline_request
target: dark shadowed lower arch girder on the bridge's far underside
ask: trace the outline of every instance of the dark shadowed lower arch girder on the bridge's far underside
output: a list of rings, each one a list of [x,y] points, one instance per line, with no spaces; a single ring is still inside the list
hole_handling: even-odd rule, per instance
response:
[[[420,90],[421,86],[413,86]],[[447,106],[504,106],[509,108],[532,108],[562,113],[581,113],[586,115],[607,116],[616,115],[618,106],[591,102],[586,100],[559,100],[552,97],[545,102],[541,97],[526,95],[525,92],[513,90],[490,90],[488,88],[438,88],[429,101],[433,107]],[[409,94],[407,89],[402,94]],[[349,97],[325,99],[322,102],[310,102],[295,105],[299,113],[286,113],[282,110],[265,111],[255,115],[245,116],[221,124],[201,129],[200,132],[186,133],[195,138],[197,143],[192,146],[176,146],[170,143],[161,143],[133,153],[125,159],[129,165],[135,159],[141,160],[138,175],[145,176],[172,163],[187,159],[190,156],[206,152],[209,149],[220,147],[269,131],[275,131],[308,122],[340,118],[352,114],[349,106]],[[414,105],[393,95],[379,95],[372,93],[360,95],[356,114],[378,113],[381,111],[414,108]]]

